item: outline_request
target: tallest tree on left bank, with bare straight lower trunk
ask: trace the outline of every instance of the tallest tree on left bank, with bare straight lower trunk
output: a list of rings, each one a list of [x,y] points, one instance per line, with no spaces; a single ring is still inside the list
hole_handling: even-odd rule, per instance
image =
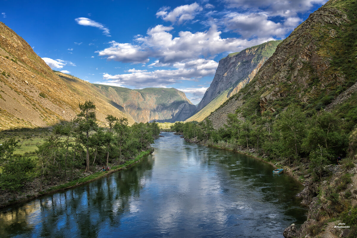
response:
[[[85,145],[87,150],[87,157],[86,157],[86,170],[85,172],[89,171],[89,137],[90,132],[96,130],[98,127],[97,125],[97,118],[95,114],[95,105],[91,101],[85,101],[84,104],[79,103],[79,109],[81,112],[77,114],[77,120],[79,130],[85,133],[85,137],[82,138],[82,143]]]

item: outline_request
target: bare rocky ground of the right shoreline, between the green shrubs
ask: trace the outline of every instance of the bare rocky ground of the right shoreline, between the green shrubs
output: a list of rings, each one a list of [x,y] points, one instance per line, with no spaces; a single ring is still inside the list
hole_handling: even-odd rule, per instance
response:
[[[191,143],[199,143],[201,145],[220,148],[223,150],[230,150],[238,153],[242,153],[244,155],[248,155],[250,157],[254,157],[263,162],[271,164],[274,168],[283,168],[284,173],[288,174],[292,178],[296,179],[296,181],[300,182],[304,189],[298,193],[296,196],[301,198],[301,205],[308,207],[307,213],[307,221],[301,224],[300,227],[296,226],[296,224],[291,224],[289,227],[285,229],[283,232],[283,236],[285,238],[309,238],[315,237],[316,234],[312,234],[313,229],[315,227],[320,227],[321,233],[318,237],[326,237],[326,238],[337,238],[337,237],[348,237],[350,233],[350,229],[348,228],[336,228],[341,221],[338,220],[338,214],[331,214],[326,219],[321,219],[321,211],[327,211],[328,206],[330,206],[331,201],[322,202],[321,200],[321,191],[328,189],[330,186],[338,186],[338,182],[341,177],[346,174],[351,174],[351,183],[347,184],[347,188],[343,191],[340,191],[340,195],[344,196],[346,191],[351,193],[351,204],[357,205],[357,163],[354,163],[354,167],[345,168],[343,165],[328,165],[326,166],[326,170],[329,171],[329,174],[323,174],[322,178],[325,179],[322,182],[313,181],[311,174],[304,174],[302,170],[307,171],[309,167],[309,163],[305,161],[305,163],[301,163],[299,166],[282,164],[282,162],[274,163],[269,161],[266,156],[259,156],[255,153],[255,148],[250,148],[249,150],[242,150],[242,148],[238,148],[238,150],[231,150],[229,148],[221,148],[216,146],[210,146],[201,141],[197,140],[197,138],[192,138],[191,140],[187,140],[183,137],[182,133],[174,133],[175,135],[180,135],[181,138],[185,139],[187,142]],[[319,221],[320,220],[320,221]],[[323,221],[322,224],[321,221]]]

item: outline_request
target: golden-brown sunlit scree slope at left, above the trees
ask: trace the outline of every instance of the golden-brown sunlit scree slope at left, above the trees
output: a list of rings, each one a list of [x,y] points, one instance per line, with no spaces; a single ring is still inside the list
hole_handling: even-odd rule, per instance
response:
[[[92,100],[97,117],[128,117],[96,94],[90,83],[71,82],[55,74],[29,44],[0,22],[0,130],[45,127],[70,120],[78,104]]]

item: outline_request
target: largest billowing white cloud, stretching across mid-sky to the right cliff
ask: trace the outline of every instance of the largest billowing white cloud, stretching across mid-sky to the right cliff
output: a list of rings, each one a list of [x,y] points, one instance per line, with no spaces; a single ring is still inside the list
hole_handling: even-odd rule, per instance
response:
[[[162,64],[174,64],[199,57],[214,57],[222,52],[237,52],[273,40],[272,37],[253,40],[222,38],[216,25],[204,32],[180,31],[177,37],[169,32],[172,29],[157,25],[147,31],[147,36],[135,39],[136,44],[111,41],[109,48],[97,53],[107,60],[120,62],[144,63],[149,62],[149,57],[154,57]]]

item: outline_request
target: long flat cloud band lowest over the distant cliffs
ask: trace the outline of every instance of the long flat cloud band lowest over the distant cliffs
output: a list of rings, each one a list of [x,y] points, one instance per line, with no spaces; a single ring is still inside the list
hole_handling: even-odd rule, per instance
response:
[[[129,74],[103,74],[107,83],[128,85],[137,88],[163,87],[183,80],[197,80],[205,76],[213,76],[218,62],[213,60],[197,59],[174,64],[173,70],[127,70]]]

